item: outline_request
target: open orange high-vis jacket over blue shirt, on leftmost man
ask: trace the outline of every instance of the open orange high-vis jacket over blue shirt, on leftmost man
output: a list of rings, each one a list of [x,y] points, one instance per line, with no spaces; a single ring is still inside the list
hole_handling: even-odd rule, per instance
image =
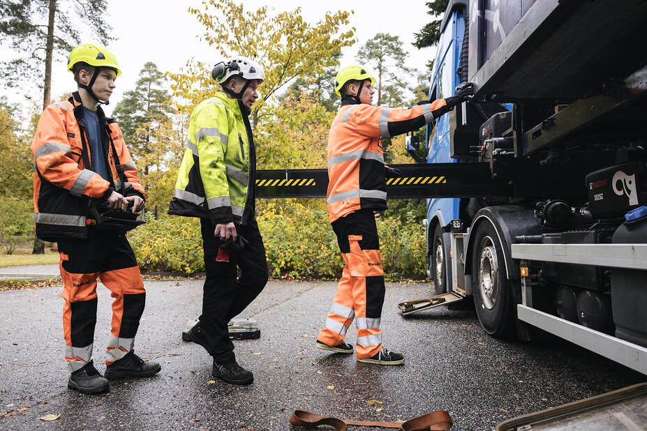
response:
[[[119,125],[106,118],[101,107],[97,115],[112,182],[88,169],[91,149],[78,93],[65,102],[52,103],[40,115],[31,153],[36,236],[43,241],[86,238],[90,199],[106,199],[113,190],[145,199]]]

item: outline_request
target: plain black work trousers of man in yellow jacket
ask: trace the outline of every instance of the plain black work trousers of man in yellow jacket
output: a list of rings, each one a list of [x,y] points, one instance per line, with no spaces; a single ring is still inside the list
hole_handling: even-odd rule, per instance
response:
[[[248,243],[239,252],[230,250],[228,262],[216,261],[223,241],[214,237],[215,226],[211,220],[201,218],[200,225],[207,273],[200,324],[214,361],[230,363],[235,360],[235,355],[227,324],[260,294],[267,283],[265,245],[255,220],[251,225],[237,225],[237,234]]]

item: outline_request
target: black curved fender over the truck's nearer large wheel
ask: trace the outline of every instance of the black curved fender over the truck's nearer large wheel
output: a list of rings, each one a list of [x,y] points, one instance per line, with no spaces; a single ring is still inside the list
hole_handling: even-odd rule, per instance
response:
[[[479,225],[489,222],[498,235],[498,240],[503,248],[505,259],[505,275],[508,280],[521,278],[519,262],[512,259],[510,246],[514,244],[514,237],[517,235],[538,235],[541,234],[540,224],[535,218],[535,212],[526,206],[501,205],[486,206],[479,209],[472,220],[470,232],[476,232]],[[472,250],[476,245],[473,236],[470,235],[465,252],[465,273],[472,272]]]

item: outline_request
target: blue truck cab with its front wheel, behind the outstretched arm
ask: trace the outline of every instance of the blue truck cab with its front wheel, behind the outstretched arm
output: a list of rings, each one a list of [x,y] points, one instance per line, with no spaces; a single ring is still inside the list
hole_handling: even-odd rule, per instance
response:
[[[456,87],[468,82],[469,44],[468,0],[449,1],[440,24],[440,40],[429,89],[429,100],[453,96]],[[493,114],[510,111],[512,104],[484,103],[477,110],[466,104],[440,116],[426,126],[427,163],[460,163],[479,161],[475,145],[481,135],[479,127]],[[470,118],[470,121],[468,120]],[[408,148],[410,150],[410,148]],[[438,180],[436,180],[438,181]],[[452,253],[449,232],[470,225],[478,209],[475,198],[431,198],[426,200],[427,275],[434,282],[436,294],[450,292]]]

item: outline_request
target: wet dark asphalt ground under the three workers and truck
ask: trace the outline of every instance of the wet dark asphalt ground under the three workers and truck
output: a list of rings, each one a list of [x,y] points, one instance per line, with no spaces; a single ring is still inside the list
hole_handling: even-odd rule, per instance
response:
[[[406,364],[357,363],[354,356],[314,346],[336,283],[270,281],[243,314],[259,320],[261,338],[235,342],[254,384],[209,383],[209,356],[180,336],[200,312],[202,281],[145,285],[147,308],[135,351],[161,363],[162,371],[113,381],[111,392],[98,396],[66,388],[61,287],[0,292],[0,428],[291,430],[295,409],[365,421],[446,409],[452,430],[491,430],[508,418],[645,381],[566,342],[493,339],[470,310],[441,307],[401,317],[396,304],[429,296],[426,284],[387,283],[384,342],[402,351]],[[103,372],[111,298],[105,287],[98,291],[94,358]],[[355,326],[347,338],[355,341]],[[46,414],[61,416],[38,419]]]

